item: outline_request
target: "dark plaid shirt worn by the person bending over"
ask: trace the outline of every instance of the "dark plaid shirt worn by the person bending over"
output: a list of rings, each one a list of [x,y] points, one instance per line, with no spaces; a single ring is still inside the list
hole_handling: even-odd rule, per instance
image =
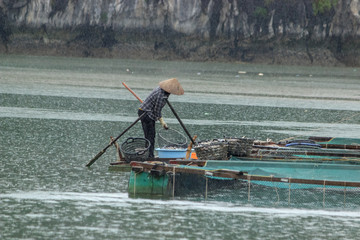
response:
[[[157,121],[161,118],[161,110],[166,104],[164,97],[167,98],[169,95],[169,93],[157,87],[140,105],[140,109],[147,112],[152,120]]]

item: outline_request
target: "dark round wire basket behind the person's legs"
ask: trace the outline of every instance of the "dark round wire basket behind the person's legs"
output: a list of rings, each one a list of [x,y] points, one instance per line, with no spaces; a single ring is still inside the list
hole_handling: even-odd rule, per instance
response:
[[[149,157],[150,141],[145,138],[128,138],[120,146],[126,162],[145,161]]]

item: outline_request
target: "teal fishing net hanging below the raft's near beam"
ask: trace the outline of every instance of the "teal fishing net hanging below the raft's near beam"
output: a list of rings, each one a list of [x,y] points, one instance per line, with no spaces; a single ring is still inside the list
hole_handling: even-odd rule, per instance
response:
[[[291,178],[276,179],[272,177],[244,176],[244,179],[198,178],[196,192],[192,188],[180,186],[181,174],[176,176],[175,193],[178,196],[203,197],[207,201],[226,201],[253,206],[282,206],[296,208],[359,208],[360,183],[357,187],[332,185],[320,181],[317,184],[301,183]],[[187,178],[182,176],[182,178]],[[169,178],[172,184],[173,178]],[[292,182],[293,180],[293,182]],[[195,182],[193,181],[193,184]],[[191,190],[191,191],[188,191]]]

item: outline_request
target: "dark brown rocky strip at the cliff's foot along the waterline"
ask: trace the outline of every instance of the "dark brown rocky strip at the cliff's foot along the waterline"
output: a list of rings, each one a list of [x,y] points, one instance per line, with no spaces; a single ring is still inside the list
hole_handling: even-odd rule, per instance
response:
[[[200,42],[193,40],[193,49],[181,46],[186,39],[180,40],[179,46],[153,40],[130,41],[129,39],[112,44],[110,47],[90,46],[84,42],[48,39],[29,35],[15,35],[7,48],[0,42],[0,54],[21,54],[39,56],[127,58],[164,61],[195,62],[237,62],[269,65],[299,66],[351,66],[359,67],[357,61],[338,59],[326,46],[306,48],[301,44],[284,46],[269,42],[265,44],[244,44],[248,50],[236,52],[231,43],[224,40]],[[187,43],[191,45],[191,43]],[[268,46],[266,46],[268,45]],[[244,48],[244,47],[243,47]],[[246,54],[244,54],[244,52]],[[350,64],[349,64],[350,62]]]

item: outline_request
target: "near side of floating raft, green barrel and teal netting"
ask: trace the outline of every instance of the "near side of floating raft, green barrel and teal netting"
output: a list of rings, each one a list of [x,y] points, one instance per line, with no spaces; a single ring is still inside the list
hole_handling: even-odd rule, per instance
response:
[[[313,202],[320,201],[323,205],[329,199],[335,201],[332,206],[360,206],[360,165],[357,164],[233,159],[177,160],[167,164],[132,162],[131,166],[130,196],[181,197],[200,194],[205,199],[232,196],[226,199],[240,198],[247,202],[255,199],[255,202],[261,200],[267,203],[266,196],[270,194],[271,202],[290,205],[307,204],[313,197]]]

